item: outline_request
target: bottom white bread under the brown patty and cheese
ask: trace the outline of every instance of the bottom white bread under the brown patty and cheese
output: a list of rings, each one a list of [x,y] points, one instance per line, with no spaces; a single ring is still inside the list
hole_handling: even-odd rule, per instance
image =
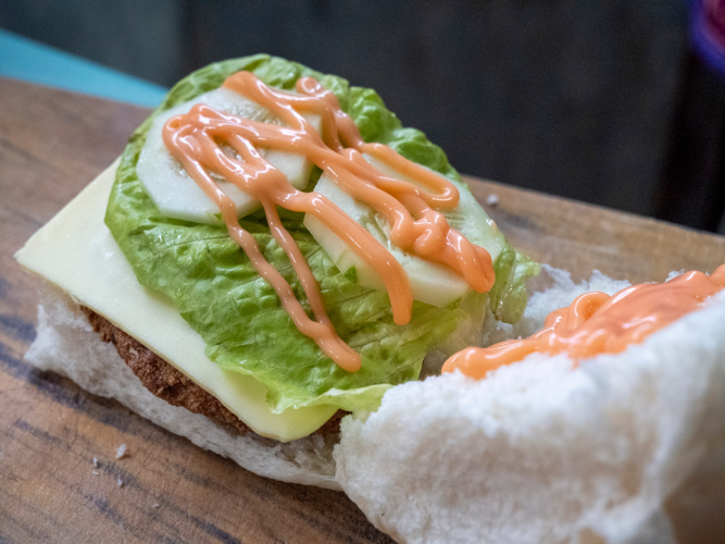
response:
[[[65,375],[95,395],[114,398],[255,474],[339,490],[332,458],[337,436],[312,434],[286,444],[252,432],[242,437],[204,416],[172,406],[141,384],[113,345],[101,342],[67,294],[49,282],[42,282],[39,292],[37,336],[25,355],[32,364]]]

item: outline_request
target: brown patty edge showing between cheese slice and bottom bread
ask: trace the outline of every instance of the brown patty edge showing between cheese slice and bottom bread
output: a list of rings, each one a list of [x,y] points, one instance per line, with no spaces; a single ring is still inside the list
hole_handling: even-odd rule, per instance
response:
[[[88,322],[103,342],[116,347],[121,358],[134,371],[143,386],[170,405],[180,406],[195,413],[201,413],[217,423],[233,429],[241,436],[250,429],[232,413],[216,397],[197,385],[192,380],[172,367],[157,354],[129,336],[105,318],[84,306],[80,307]],[[340,419],[345,412],[338,410],[316,433],[326,436],[339,432]]]

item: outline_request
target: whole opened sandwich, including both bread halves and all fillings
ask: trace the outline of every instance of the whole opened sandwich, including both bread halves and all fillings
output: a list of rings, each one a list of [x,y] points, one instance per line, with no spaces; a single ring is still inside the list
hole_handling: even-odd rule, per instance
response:
[[[371,89],[202,69],[16,257],[30,362],[399,542],[724,541],[725,269],[543,265],[529,298],[539,265]],[[618,310],[650,287],[657,326]]]

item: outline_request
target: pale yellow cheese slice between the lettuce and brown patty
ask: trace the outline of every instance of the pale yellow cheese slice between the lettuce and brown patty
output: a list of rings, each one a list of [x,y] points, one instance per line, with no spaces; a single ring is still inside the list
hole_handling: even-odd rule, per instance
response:
[[[266,390],[251,376],[221,369],[204,355],[204,341],[163,297],[138,283],[103,223],[118,161],[40,228],[15,258],[103,316],[205,391],[255,433],[280,442],[307,436],[336,408],[272,413]]]

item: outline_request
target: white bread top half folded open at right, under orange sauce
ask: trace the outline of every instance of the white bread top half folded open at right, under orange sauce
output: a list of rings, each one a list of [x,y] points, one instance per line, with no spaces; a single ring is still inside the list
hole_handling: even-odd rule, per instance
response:
[[[530,299],[515,330],[595,274]],[[528,330],[526,330],[528,329]],[[617,356],[530,356],[390,390],[346,418],[337,480],[399,542],[725,542],[725,293]]]

